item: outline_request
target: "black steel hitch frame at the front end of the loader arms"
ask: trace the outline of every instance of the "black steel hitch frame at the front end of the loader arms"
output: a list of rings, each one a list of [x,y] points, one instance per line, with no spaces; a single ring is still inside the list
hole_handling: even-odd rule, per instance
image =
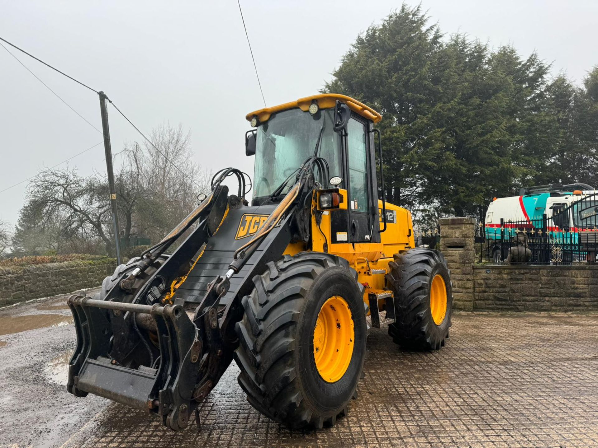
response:
[[[77,346],[69,366],[68,391],[89,392],[157,413],[171,429],[187,426],[199,372],[202,340],[181,305],[138,305],[72,296]],[[109,317],[108,317],[109,314]],[[135,349],[139,335],[126,318],[151,316],[157,326],[160,359],[155,368],[120,366],[108,354]],[[112,348],[112,350],[111,350]]]

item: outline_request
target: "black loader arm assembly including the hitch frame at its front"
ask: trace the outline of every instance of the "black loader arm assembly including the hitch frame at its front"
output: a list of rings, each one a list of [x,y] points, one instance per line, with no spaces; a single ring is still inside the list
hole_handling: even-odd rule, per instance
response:
[[[280,204],[258,207],[218,186],[192,213],[196,228],[157,269],[147,267],[150,257],[160,256],[150,250],[147,259],[121,272],[103,300],[70,297],[77,346],[68,391],[100,395],[154,413],[170,429],[185,428],[230,364],[240,298],[291,242],[295,208],[300,197],[312,195],[310,178],[298,179]],[[246,216],[267,217],[260,231],[236,238]],[[187,217],[156,247],[191,223]]]

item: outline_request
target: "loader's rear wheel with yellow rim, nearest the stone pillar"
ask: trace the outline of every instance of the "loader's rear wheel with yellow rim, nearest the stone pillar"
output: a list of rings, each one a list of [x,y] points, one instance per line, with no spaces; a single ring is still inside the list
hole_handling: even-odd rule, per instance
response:
[[[393,291],[396,321],[388,334],[395,343],[435,350],[449,337],[453,294],[442,253],[428,248],[402,250],[389,263],[386,280]]]

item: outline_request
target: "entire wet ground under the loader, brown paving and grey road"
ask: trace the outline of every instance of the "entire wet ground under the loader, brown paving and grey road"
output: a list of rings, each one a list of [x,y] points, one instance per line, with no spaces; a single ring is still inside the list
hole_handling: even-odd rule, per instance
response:
[[[0,447],[598,446],[598,315],[457,314],[437,352],[372,329],[359,397],[321,431],[260,415],[233,363],[202,404],[202,431],[173,433],[66,392],[75,332],[63,300],[0,309]]]

